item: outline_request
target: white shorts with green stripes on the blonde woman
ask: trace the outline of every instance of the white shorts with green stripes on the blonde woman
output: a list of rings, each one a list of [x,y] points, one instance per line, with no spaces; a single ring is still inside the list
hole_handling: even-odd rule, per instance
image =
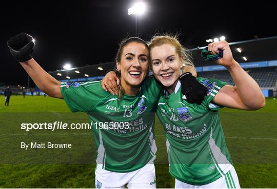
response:
[[[219,179],[205,185],[191,185],[175,179],[175,188],[241,188],[238,175],[232,166],[231,169]]]

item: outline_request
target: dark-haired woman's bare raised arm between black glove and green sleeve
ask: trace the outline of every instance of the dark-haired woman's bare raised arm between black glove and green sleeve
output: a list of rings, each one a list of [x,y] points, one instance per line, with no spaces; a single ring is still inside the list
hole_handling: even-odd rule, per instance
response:
[[[20,64],[41,91],[51,97],[63,99],[61,82],[47,73],[33,58]]]

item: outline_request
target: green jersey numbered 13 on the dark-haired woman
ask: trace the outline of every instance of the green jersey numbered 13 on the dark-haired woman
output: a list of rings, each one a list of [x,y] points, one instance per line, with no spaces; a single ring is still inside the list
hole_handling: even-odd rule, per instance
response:
[[[101,81],[62,83],[61,92],[72,112],[86,112],[93,123],[96,163],[103,169],[126,173],[155,159],[154,113],[162,87],[153,77],[137,95],[122,99],[104,91]]]

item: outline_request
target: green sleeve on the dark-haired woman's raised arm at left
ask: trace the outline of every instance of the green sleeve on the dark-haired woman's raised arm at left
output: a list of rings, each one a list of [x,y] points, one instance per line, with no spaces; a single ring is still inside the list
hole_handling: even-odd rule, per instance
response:
[[[101,81],[62,82],[61,93],[72,112],[89,112],[104,96]]]

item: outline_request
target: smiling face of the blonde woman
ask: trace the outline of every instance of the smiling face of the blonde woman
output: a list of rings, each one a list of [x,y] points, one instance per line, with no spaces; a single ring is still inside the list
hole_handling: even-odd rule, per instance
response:
[[[150,51],[151,67],[154,76],[171,94],[181,75],[182,58],[176,53],[173,45],[155,46]]]

